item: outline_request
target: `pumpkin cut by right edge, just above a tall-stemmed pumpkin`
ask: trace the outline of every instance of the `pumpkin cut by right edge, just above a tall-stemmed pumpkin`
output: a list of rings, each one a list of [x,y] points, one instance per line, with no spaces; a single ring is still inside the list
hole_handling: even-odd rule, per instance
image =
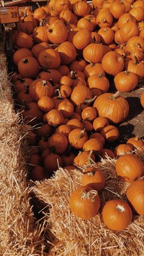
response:
[[[140,51],[144,51],[144,39],[141,37],[131,37],[128,42],[126,43],[126,48],[128,49],[129,53],[139,49]]]

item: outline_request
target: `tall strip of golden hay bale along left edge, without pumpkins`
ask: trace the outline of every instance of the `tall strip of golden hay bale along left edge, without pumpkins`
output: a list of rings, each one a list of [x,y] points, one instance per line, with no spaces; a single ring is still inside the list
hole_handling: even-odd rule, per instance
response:
[[[2,49],[2,48],[1,48]],[[23,133],[15,114],[5,54],[0,52],[0,255],[44,255],[43,226],[35,224],[26,182]]]

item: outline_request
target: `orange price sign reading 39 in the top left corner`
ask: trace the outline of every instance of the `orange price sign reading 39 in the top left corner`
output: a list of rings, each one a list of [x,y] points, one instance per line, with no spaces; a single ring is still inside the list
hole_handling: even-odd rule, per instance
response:
[[[7,24],[7,23],[16,23],[20,21],[18,7],[11,6],[11,7],[0,7],[0,23]]]

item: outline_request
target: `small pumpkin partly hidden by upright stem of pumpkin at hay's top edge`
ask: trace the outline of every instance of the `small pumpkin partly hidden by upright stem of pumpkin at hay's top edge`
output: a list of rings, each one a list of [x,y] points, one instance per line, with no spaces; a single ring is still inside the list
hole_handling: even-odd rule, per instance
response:
[[[85,151],[90,151],[94,153],[94,155],[98,155],[100,150],[103,148],[102,142],[97,138],[88,139],[83,145],[83,149]]]

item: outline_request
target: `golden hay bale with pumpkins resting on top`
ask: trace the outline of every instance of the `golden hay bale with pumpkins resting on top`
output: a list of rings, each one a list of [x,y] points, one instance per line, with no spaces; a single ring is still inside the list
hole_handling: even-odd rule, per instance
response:
[[[140,154],[140,153],[139,153]],[[141,157],[143,152],[141,152]],[[124,183],[115,174],[115,159],[107,158],[98,165],[106,176],[106,186],[99,192],[101,208],[94,218],[84,221],[74,216],[69,207],[70,194],[81,184],[79,170],[57,170],[53,178],[35,183],[38,199],[49,205],[45,222],[56,240],[49,241],[49,255],[142,255],[143,218],[133,214],[131,224],[121,232],[113,232],[104,225],[101,210],[107,200],[126,201]]]

